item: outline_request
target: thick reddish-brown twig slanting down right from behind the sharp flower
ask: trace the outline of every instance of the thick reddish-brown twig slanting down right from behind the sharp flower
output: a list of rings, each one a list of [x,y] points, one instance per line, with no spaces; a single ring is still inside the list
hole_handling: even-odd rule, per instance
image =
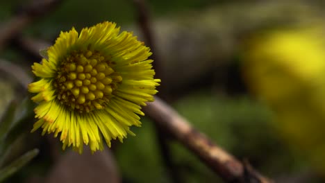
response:
[[[144,107],[144,111],[160,128],[172,133],[176,140],[189,148],[224,181],[240,183],[272,182],[260,175],[247,162],[238,161],[201,132],[195,130],[186,119],[160,98],[156,98],[156,101]]]

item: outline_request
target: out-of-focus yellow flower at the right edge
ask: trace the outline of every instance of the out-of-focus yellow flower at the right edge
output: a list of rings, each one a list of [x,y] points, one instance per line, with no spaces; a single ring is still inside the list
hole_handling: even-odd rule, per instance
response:
[[[252,40],[244,75],[274,111],[286,141],[325,173],[325,39],[321,28],[276,30]]]

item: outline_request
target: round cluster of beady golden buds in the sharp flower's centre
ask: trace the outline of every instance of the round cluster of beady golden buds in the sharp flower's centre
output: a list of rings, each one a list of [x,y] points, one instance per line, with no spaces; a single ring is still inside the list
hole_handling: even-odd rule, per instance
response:
[[[81,113],[103,109],[122,81],[110,65],[98,51],[72,51],[54,82],[60,103]]]

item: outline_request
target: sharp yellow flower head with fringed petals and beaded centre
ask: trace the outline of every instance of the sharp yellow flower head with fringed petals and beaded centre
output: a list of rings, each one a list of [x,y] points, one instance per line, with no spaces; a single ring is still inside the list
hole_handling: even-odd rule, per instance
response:
[[[83,143],[92,153],[103,149],[103,139],[123,141],[133,134],[130,126],[140,126],[140,105],[153,101],[159,79],[154,79],[150,49],[126,31],[119,33],[115,23],[103,22],[61,32],[47,49],[42,63],[34,63],[40,80],[28,85],[37,93],[32,132],[60,133],[63,149],[79,153]],[[134,134],[133,134],[134,135]]]

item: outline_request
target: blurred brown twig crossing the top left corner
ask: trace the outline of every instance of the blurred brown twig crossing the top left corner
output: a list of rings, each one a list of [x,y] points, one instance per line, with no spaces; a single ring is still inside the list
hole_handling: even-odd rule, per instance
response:
[[[35,0],[26,7],[21,8],[15,17],[9,19],[0,28],[0,49],[19,34],[22,29],[31,23],[35,18],[41,17],[49,12],[62,0]]]

